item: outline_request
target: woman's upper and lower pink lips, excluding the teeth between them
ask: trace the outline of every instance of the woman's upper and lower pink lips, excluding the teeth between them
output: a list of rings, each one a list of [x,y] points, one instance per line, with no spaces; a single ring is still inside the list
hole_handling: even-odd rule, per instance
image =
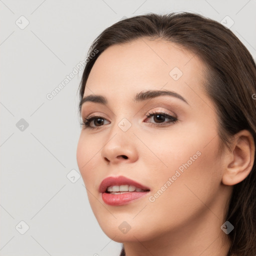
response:
[[[109,205],[122,205],[127,204],[130,201],[137,199],[145,194],[148,193],[148,191],[143,192],[127,192],[127,193],[121,193],[121,194],[110,194],[106,193],[106,189],[108,186],[113,185],[133,185],[135,187],[141,188],[143,190],[150,190],[147,186],[144,186],[132,179],[126,178],[124,176],[118,176],[118,177],[107,177],[102,180],[102,182],[99,185],[99,192],[102,193],[102,200]]]

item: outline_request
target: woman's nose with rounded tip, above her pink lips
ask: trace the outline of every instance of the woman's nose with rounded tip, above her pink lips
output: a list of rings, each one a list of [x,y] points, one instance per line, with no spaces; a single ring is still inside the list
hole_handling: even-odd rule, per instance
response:
[[[107,164],[135,162],[138,152],[134,141],[131,130],[122,131],[118,126],[113,128],[101,150],[103,160]]]

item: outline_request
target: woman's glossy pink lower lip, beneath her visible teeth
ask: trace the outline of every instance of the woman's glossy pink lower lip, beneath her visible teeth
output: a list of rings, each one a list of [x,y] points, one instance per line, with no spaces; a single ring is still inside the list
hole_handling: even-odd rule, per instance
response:
[[[102,200],[108,205],[123,205],[132,200],[138,199],[148,193],[146,192],[127,192],[121,194],[102,193]]]

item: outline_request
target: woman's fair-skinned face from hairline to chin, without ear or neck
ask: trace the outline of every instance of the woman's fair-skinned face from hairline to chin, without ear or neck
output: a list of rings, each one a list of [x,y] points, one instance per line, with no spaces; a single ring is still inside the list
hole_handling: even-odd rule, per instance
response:
[[[146,38],[112,45],[94,63],[81,116],[100,117],[82,126],[77,163],[95,217],[113,240],[220,229],[227,197],[204,74],[196,54]],[[100,188],[107,177],[114,178]],[[143,190],[132,192],[134,184]]]

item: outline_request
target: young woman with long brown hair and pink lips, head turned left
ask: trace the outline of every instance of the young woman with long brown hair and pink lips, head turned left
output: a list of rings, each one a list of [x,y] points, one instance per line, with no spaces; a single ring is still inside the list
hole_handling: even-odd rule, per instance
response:
[[[77,163],[121,255],[255,255],[256,67],[245,46],[199,14],[150,13],[106,28],[88,55]]]

